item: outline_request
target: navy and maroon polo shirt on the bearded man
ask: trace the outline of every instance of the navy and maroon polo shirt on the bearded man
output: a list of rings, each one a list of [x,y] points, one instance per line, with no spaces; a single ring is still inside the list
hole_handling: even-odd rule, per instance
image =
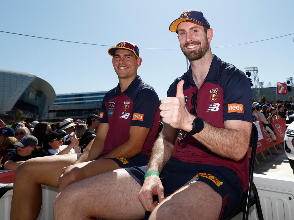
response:
[[[246,75],[235,66],[223,62],[213,56],[209,72],[200,89],[192,78],[191,67],[181,77],[175,79],[168,89],[167,96],[176,96],[176,86],[184,80],[183,93],[186,108],[190,112],[193,94],[197,94],[197,116],[218,128],[224,128],[226,120],[241,120],[252,122],[251,102],[252,90]],[[209,134],[212,138],[214,134]],[[236,140],[236,147],[238,147]],[[240,178],[244,191],[248,188],[248,156],[234,161],[221,157],[206,148],[190,134],[179,142],[173,157],[190,163],[217,165],[235,170]]]

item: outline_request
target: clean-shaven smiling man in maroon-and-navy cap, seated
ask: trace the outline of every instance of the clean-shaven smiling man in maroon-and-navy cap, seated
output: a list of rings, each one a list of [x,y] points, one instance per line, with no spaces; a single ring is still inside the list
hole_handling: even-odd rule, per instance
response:
[[[82,155],[55,155],[22,164],[16,170],[11,219],[38,217],[41,184],[58,187],[56,180],[59,179],[59,191],[62,191],[74,182],[103,172],[147,165],[159,126],[158,96],[137,75],[142,62],[137,45],[122,41],[109,48],[108,54],[113,57],[119,83],[103,98],[95,139]],[[83,185],[91,187],[91,183]]]

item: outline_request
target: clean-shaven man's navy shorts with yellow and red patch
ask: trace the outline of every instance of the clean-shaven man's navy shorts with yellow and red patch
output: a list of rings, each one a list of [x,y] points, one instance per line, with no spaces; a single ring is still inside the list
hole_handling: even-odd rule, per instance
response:
[[[132,158],[107,158],[111,159],[118,164],[121,168],[131,167],[131,166],[144,166],[149,162],[149,158],[146,154],[139,153]],[[144,178],[143,178],[144,179]]]

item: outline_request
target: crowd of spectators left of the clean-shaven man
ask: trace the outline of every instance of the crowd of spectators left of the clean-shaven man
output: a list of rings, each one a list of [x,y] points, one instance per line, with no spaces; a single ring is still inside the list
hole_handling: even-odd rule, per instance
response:
[[[84,122],[20,121],[9,127],[0,120],[0,169],[16,169],[35,157],[81,153],[96,136],[99,116],[91,114]]]

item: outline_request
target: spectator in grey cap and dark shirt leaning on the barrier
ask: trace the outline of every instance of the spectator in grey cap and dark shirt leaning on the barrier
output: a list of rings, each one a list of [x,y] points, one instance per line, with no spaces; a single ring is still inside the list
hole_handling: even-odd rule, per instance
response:
[[[53,155],[48,150],[41,150],[38,145],[38,139],[34,136],[24,136],[19,142],[14,144],[17,150],[10,152],[6,157],[4,169],[16,169],[26,160],[35,157],[44,157]]]

